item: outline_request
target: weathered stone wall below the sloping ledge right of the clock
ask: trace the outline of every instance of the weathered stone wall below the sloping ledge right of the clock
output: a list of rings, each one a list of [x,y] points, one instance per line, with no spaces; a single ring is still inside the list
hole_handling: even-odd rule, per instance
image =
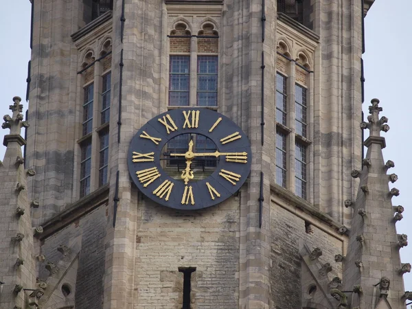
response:
[[[271,308],[301,308],[306,289],[311,284],[318,286],[314,298],[326,298],[322,295],[319,282],[314,279],[317,273],[309,276],[304,271],[306,266],[302,262],[301,252],[305,246],[310,250],[319,247],[323,252],[319,258],[320,264],[332,265],[328,281],[336,276],[342,277],[341,263],[334,262],[334,255],[343,254],[341,236],[325,232],[328,228],[321,221],[312,224],[313,233],[306,232],[307,225],[308,222],[301,216],[277,203],[271,204]],[[301,293],[302,286],[306,287],[304,293]]]

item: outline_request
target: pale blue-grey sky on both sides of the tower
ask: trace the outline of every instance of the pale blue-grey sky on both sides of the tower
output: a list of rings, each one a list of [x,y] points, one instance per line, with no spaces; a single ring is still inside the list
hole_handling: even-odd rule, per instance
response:
[[[365,19],[365,103],[364,111],[372,98],[380,99],[383,113],[389,118],[391,130],[383,133],[387,140],[385,160],[395,162],[393,172],[398,174],[396,187],[400,196],[393,205],[405,207],[404,219],[397,223],[398,233],[409,233],[412,242],[412,0],[376,0]],[[25,102],[27,61],[30,60],[30,1],[3,1],[0,11],[0,116],[10,113],[12,98],[19,95]],[[409,90],[408,90],[409,89]],[[0,140],[8,130],[0,130]],[[2,143],[1,143],[2,144]],[[0,159],[5,148],[0,146]],[[401,249],[402,262],[412,263],[412,244]],[[412,290],[412,275],[404,275],[406,290]]]

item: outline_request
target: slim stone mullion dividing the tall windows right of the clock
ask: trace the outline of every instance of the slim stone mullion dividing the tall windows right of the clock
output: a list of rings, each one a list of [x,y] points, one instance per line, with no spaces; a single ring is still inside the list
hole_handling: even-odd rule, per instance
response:
[[[295,83],[296,83],[296,65],[290,61],[289,77],[287,81],[287,116],[286,126],[292,131],[286,136],[286,188],[295,193]]]

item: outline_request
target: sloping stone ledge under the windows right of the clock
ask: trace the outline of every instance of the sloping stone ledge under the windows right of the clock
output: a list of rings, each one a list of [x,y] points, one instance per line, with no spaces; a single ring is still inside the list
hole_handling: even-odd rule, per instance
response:
[[[310,216],[317,218],[322,222],[325,222],[327,225],[338,231],[338,233],[339,228],[343,227],[341,223],[336,222],[333,218],[331,218],[327,214],[324,214],[322,211],[319,211],[318,209],[314,208],[310,203],[303,200],[302,198],[299,198],[289,190],[286,190],[284,187],[280,187],[279,185],[271,185],[271,192],[284,198],[284,200],[291,203],[297,209],[300,209],[301,211],[304,211],[306,214],[309,214]],[[347,229],[345,234],[349,235],[349,229]]]

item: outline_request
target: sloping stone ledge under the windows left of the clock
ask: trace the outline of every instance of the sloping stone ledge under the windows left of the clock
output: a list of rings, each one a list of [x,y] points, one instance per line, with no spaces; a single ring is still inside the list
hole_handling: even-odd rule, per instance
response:
[[[95,192],[68,205],[60,214],[44,222],[42,225],[43,233],[41,233],[38,239],[45,240],[45,238],[52,236],[56,231],[71,224],[74,220],[103,205],[108,201],[108,188],[108,184],[100,187],[98,190],[95,190]]]

